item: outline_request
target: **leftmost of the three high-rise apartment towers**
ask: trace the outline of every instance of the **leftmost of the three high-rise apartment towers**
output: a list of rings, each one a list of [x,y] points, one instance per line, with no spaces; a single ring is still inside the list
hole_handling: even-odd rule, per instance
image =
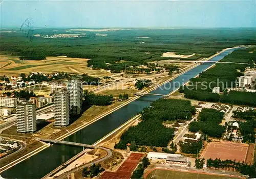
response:
[[[28,133],[36,131],[35,104],[22,101],[16,106],[17,132]]]

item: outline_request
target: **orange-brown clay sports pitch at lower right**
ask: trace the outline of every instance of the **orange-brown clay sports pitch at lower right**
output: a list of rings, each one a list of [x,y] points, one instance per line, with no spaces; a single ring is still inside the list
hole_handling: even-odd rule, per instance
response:
[[[221,160],[236,160],[237,162],[244,162],[246,159],[248,144],[241,144],[235,142],[210,142],[202,152],[201,158]]]

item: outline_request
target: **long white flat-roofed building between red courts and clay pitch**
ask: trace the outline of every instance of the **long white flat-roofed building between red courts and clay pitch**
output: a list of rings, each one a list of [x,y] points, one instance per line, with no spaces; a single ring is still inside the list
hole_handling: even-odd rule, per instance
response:
[[[180,154],[166,154],[160,152],[148,152],[147,158],[154,161],[154,160],[164,160],[166,164],[172,164],[177,166],[184,166],[188,165],[187,157],[184,157]]]

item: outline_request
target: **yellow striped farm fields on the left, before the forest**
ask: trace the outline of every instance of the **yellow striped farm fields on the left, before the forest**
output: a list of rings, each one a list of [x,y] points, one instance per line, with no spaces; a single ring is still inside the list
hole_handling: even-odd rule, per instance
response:
[[[19,60],[17,56],[0,55],[0,75],[18,75],[39,71],[44,73],[69,72],[88,73],[90,75],[105,76],[110,72],[92,70],[87,67],[87,60],[82,58],[67,58],[66,56],[47,57],[46,60]]]

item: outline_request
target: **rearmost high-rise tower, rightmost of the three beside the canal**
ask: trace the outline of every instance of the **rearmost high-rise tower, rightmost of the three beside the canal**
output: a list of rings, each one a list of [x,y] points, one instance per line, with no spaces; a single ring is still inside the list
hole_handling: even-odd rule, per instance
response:
[[[79,80],[71,80],[67,83],[69,92],[70,114],[77,115],[82,111],[82,83]]]

